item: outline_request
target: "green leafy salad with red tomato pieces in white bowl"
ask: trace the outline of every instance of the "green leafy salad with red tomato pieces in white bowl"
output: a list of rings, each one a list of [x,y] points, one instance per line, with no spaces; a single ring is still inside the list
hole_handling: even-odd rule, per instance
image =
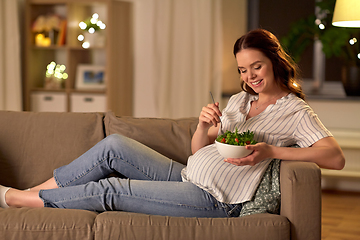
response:
[[[247,132],[238,133],[237,128],[235,132],[226,131],[224,134],[219,135],[216,141],[236,146],[246,146],[257,143],[254,140],[254,132],[248,130]]]

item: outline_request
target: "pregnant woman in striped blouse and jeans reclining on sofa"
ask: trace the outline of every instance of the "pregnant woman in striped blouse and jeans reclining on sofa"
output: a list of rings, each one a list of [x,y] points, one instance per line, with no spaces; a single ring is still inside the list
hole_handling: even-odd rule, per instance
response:
[[[342,169],[344,155],[304,101],[296,65],[270,32],[238,39],[234,56],[244,91],[221,112],[203,107],[187,166],[120,135],[110,135],[46,182],[28,190],[0,186],[1,207],[128,211],[184,217],[237,217],[271,159],[314,162]],[[221,124],[220,123],[221,120]],[[217,135],[252,131],[253,153],[223,159]],[[300,148],[291,148],[297,144]],[[116,172],[125,176],[108,177]]]

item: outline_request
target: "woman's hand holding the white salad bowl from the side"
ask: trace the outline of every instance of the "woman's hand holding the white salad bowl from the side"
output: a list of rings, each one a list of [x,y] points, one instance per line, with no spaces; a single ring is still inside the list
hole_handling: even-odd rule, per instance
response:
[[[225,162],[234,164],[236,166],[245,166],[250,165],[254,166],[257,163],[265,160],[266,158],[272,157],[272,147],[269,144],[266,144],[264,142],[257,143],[254,145],[247,145],[245,146],[248,150],[253,150],[253,152],[243,158],[228,158],[225,159]]]

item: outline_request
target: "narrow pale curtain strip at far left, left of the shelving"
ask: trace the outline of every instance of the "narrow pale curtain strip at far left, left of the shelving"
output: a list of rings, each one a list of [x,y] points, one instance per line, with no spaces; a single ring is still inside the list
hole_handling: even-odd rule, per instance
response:
[[[22,110],[18,4],[0,0],[0,110]]]

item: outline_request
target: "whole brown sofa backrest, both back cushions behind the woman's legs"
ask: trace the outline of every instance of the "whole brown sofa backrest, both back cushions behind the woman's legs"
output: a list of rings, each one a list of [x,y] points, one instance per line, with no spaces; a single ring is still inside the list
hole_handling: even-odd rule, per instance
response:
[[[0,111],[0,184],[20,189],[53,176],[105,136],[118,133],[186,164],[197,118]]]

